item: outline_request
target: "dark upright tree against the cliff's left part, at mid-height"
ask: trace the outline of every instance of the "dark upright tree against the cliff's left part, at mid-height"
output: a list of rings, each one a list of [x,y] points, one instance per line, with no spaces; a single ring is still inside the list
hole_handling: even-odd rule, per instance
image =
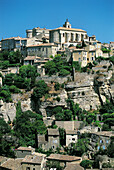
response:
[[[33,90],[33,95],[32,95],[32,99],[34,101],[38,101],[42,96],[44,96],[46,93],[48,93],[48,86],[45,83],[44,80],[39,80],[38,82],[36,82],[36,87]]]

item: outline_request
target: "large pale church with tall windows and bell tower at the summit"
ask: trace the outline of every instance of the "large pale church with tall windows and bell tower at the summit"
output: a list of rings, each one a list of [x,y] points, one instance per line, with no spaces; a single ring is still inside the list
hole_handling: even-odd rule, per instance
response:
[[[88,41],[87,32],[82,29],[71,28],[71,24],[66,20],[63,27],[49,31],[50,43],[58,43],[61,47],[68,47],[70,44],[76,45],[79,41]]]

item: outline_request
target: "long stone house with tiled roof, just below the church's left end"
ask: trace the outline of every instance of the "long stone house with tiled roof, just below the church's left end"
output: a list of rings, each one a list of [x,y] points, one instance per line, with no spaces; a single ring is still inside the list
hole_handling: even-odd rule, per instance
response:
[[[30,45],[27,46],[27,55],[49,58],[51,55],[55,56],[57,54],[57,50],[58,47],[54,43]]]

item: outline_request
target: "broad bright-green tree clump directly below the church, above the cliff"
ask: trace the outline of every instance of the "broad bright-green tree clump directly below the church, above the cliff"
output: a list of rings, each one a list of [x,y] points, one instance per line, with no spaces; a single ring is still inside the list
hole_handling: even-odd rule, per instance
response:
[[[60,76],[64,77],[70,74],[71,66],[69,66],[67,61],[63,59],[62,56],[57,55],[53,58],[52,61],[48,61],[45,64],[45,70],[46,74],[49,76],[59,73]]]

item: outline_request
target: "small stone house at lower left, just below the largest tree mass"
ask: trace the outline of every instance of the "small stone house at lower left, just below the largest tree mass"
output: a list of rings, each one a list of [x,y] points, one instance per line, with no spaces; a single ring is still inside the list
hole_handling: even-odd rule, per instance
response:
[[[35,152],[34,148],[31,147],[19,147],[15,149],[16,157],[17,158],[24,158],[26,155],[31,155]]]

